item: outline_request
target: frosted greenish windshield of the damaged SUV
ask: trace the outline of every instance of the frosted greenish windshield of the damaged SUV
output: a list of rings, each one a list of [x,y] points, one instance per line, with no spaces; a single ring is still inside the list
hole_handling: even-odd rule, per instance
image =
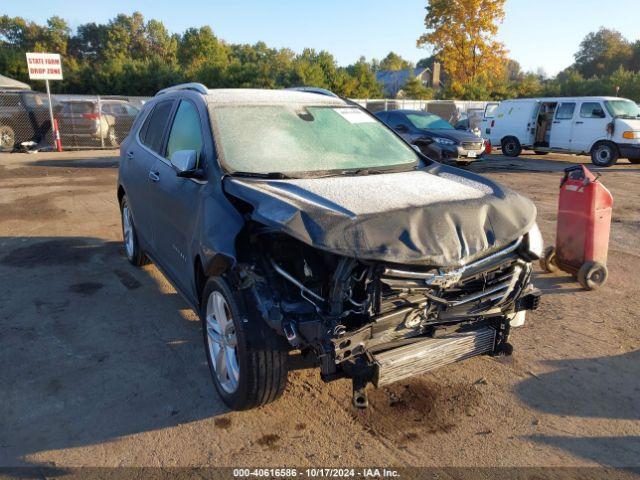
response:
[[[381,122],[354,108],[304,104],[211,108],[223,165],[231,172],[385,169],[418,162]]]

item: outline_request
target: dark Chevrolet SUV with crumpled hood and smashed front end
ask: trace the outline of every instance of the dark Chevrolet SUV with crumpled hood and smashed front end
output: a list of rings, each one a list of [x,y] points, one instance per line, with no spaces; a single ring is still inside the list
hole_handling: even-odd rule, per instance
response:
[[[278,398],[294,359],[364,407],[368,383],[509,354],[538,304],[534,205],[338,97],[165,89],[121,146],[118,200],[129,261],[199,313],[234,409]]]

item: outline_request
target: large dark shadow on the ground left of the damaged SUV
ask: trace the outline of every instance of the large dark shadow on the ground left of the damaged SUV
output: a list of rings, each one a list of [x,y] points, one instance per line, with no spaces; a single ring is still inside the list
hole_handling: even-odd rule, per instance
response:
[[[200,324],[154,267],[93,238],[5,237],[0,252],[0,465],[226,412]]]

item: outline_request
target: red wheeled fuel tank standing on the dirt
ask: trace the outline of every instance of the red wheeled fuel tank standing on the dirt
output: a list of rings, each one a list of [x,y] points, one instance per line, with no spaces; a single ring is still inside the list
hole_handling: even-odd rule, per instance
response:
[[[572,273],[588,290],[603,285],[612,207],[611,193],[585,166],[567,168],[560,182],[556,246],[545,252],[545,270]]]

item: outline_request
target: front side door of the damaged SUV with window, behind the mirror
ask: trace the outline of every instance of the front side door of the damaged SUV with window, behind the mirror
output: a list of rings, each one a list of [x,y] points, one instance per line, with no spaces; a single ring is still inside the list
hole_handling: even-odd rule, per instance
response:
[[[151,190],[156,249],[163,269],[186,292],[191,285],[193,232],[197,222],[202,181],[181,178],[171,165],[171,155],[178,150],[195,150],[202,158],[203,124],[195,103],[182,99],[170,127],[162,159],[153,167],[159,179]]]

